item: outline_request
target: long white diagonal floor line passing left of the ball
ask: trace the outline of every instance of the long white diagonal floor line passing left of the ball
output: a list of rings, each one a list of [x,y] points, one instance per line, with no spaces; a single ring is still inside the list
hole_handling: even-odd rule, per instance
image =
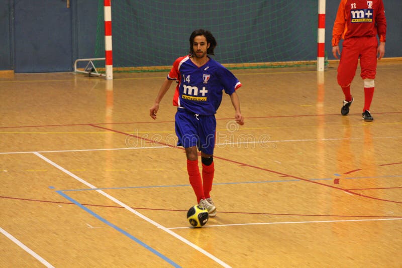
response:
[[[74,179],[76,179],[77,181],[85,184],[86,186],[88,186],[89,188],[92,189],[96,189],[97,187],[93,186],[92,184],[90,184],[89,182],[79,178],[78,176],[76,176],[75,174],[69,172],[68,170],[64,169],[63,167],[57,165],[56,163],[54,163],[53,161],[51,161],[50,159],[42,156],[41,154],[39,154],[38,152],[33,152],[34,155],[38,156],[39,158],[43,159],[44,161],[46,161],[47,163],[49,163],[50,165],[52,165],[53,167],[61,170],[62,172],[64,172],[65,174],[73,177]],[[197,246],[196,244],[191,243],[190,241],[188,241],[187,239],[185,239],[184,237],[176,234],[175,232],[169,230],[168,228],[160,225],[159,223],[151,220],[150,218],[146,217],[145,215],[141,214],[140,212],[138,212],[135,209],[132,209],[130,206],[126,205],[125,203],[121,202],[120,200],[116,199],[115,197],[105,193],[102,190],[95,190],[96,192],[98,192],[99,194],[102,194],[103,196],[109,198],[110,200],[112,200],[113,202],[115,202],[116,204],[119,204],[120,206],[124,207],[125,209],[127,209],[128,211],[130,211],[131,213],[137,215],[138,217],[144,219],[145,221],[151,223],[152,225],[155,225],[156,227],[162,229],[163,231],[167,232],[168,234],[176,237],[177,239],[181,240],[182,242],[184,242],[185,244],[191,246],[192,248],[194,248],[195,250],[198,250],[199,252],[203,253],[204,255],[210,257],[211,259],[213,259],[214,261],[216,261],[217,263],[221,264],[224,267],[231,267],[229,264],[225,263],[224,261],[222,261],[221,259],[217,258],[216,256],[214,256],[213,254],[211,254],[210,252],[204,250],[203,248],[200,248],[199,246]]]

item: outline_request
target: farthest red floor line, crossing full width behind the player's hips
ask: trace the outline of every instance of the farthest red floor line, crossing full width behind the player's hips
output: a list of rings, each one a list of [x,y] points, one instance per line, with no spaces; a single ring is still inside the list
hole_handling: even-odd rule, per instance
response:
[[[392,113],[402,113],[400,112],[376,112],[375,114],[392,114]],[[360,114],[360,113],[350,113],[350,114]],[[272,115],[272,116],[254,116],[246,117],[246,119],[264,119],[264,118],[283,118],[283,117],[306,117],[306,116],[338,116],[339,113],[330,114],[295,114],[295,115]],[[233,120],[230,118],[217,118],[217,120]],[[81,123],[81,124],[52,124],[52,125],[21,125],[21,126],[0,126],[2,128],[23,128],[23,127],[50,127],[50,126],[76,126],[76,125],[108,125],[108,124],[149,124],[149,123],[171,123],[174,120],[168,121],[138,121],[138,122],[114,122],[114,123]]]

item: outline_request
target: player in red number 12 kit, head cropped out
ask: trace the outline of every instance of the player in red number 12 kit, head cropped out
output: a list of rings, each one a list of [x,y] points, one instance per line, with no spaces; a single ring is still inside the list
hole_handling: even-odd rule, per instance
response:
[[[362,118],[372,121],[370,105],[374,94],[374,78],[377,55],[380,60],[385,53],[386,19],[382,0],[341,0],[332,31],[332,54],[341,60],[338,66],[338,84],[345,95],[341,113],[349,113],[353,102],[350,94],[352,82],[360,58],[361,78],[364,82],[364,107]],[[379,37],[379,45],[377,41]],[[339,41],[342,43],[342,54]]]

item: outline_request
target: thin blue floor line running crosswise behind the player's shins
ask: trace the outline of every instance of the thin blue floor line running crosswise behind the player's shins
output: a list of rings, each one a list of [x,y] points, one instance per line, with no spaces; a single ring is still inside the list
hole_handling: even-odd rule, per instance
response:
[[[394,177],[402,177],[401,175],[391,175],[391,176],[377,176],[377,177],[346,177],[342,179],[370,179],[370,178],[394,178]],[[333,180],[334,178],[314,178],[309,179],[311,181],[328,181]],[[275,180],[275,181],[249,181],[249,182],[219,182],[214,183],[214,185],[228,185],[228,184],[249,184],[249,183],[271,183],[271,182],[295,182],[301,181],[299,179],[293,180]],[[176,184],[176,185],[148,185],[148,186],[128,186],[128,187],[104,187],[104,188],[85,188],[85,189],[64,189],[59,190],[60,192],[74,192],[74,191],[92,191],[92,190],[118,190],[118,189],[133,189],[133,188],[163,188],[163,187],[183,187],[183,186],[191,186],[190,184]]]

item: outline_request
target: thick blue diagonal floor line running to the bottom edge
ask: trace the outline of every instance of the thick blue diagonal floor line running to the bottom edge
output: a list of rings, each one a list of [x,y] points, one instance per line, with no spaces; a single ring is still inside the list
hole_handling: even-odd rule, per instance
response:
[[[121,229],[120,227],[114,225],[113,223],[111,223],[110,221],[106,220],[103,217],[100,217],[98,214],[96,214],[95,212],[93,212],[92,210],[88,209],[87,207],[83,206],[82,204],[80,204],[79,202],[75,201],[74,199],[72,199],[71,197],[69,197],[68,195],[66,195],[65,193],[63,193],[62,191],[55,191],[56,193],[58,193],[59,195],[63,196],[64,198],[66,198],[67,200],[71,201],[72,203],[74,203],[75,205],[77,205],[78,207],[82,208],[83,210],[85,210],[86,212],[88,212],[89,214],[91,214],[92,216],[94,216],[95,218],[97,218],[98,220],[108,224],[109,226],[111,226],[112,228],[116,229],[117,231],[121,232],[122,234],[126,235],[127,237],[129,237],[130,239],[134,240],[135,242],[137,242],[138,244],[142,245],[143,247],[145,247],[146,249],[148,249],[149,251],[151,251],[152,253],[156,254],[157,256],[159,256],[160,258],[162,258],[163,260],[167,261],[169,264],[171,264],[174,267],[181,267],[180,265],[178,265],[177,263],[175,263],[173,260],[169,259],[168,257],[166,257],[165,255],[163,255],[162,253],[158,252],[157,250],[153,249],[152,247],[150,247],[149,245],[145,244],[144,242],[142,242],[141,240],[139,240],[138,238],[134,237],[133,235],[129,234],[128,232],[126,232],[125,230]]]

